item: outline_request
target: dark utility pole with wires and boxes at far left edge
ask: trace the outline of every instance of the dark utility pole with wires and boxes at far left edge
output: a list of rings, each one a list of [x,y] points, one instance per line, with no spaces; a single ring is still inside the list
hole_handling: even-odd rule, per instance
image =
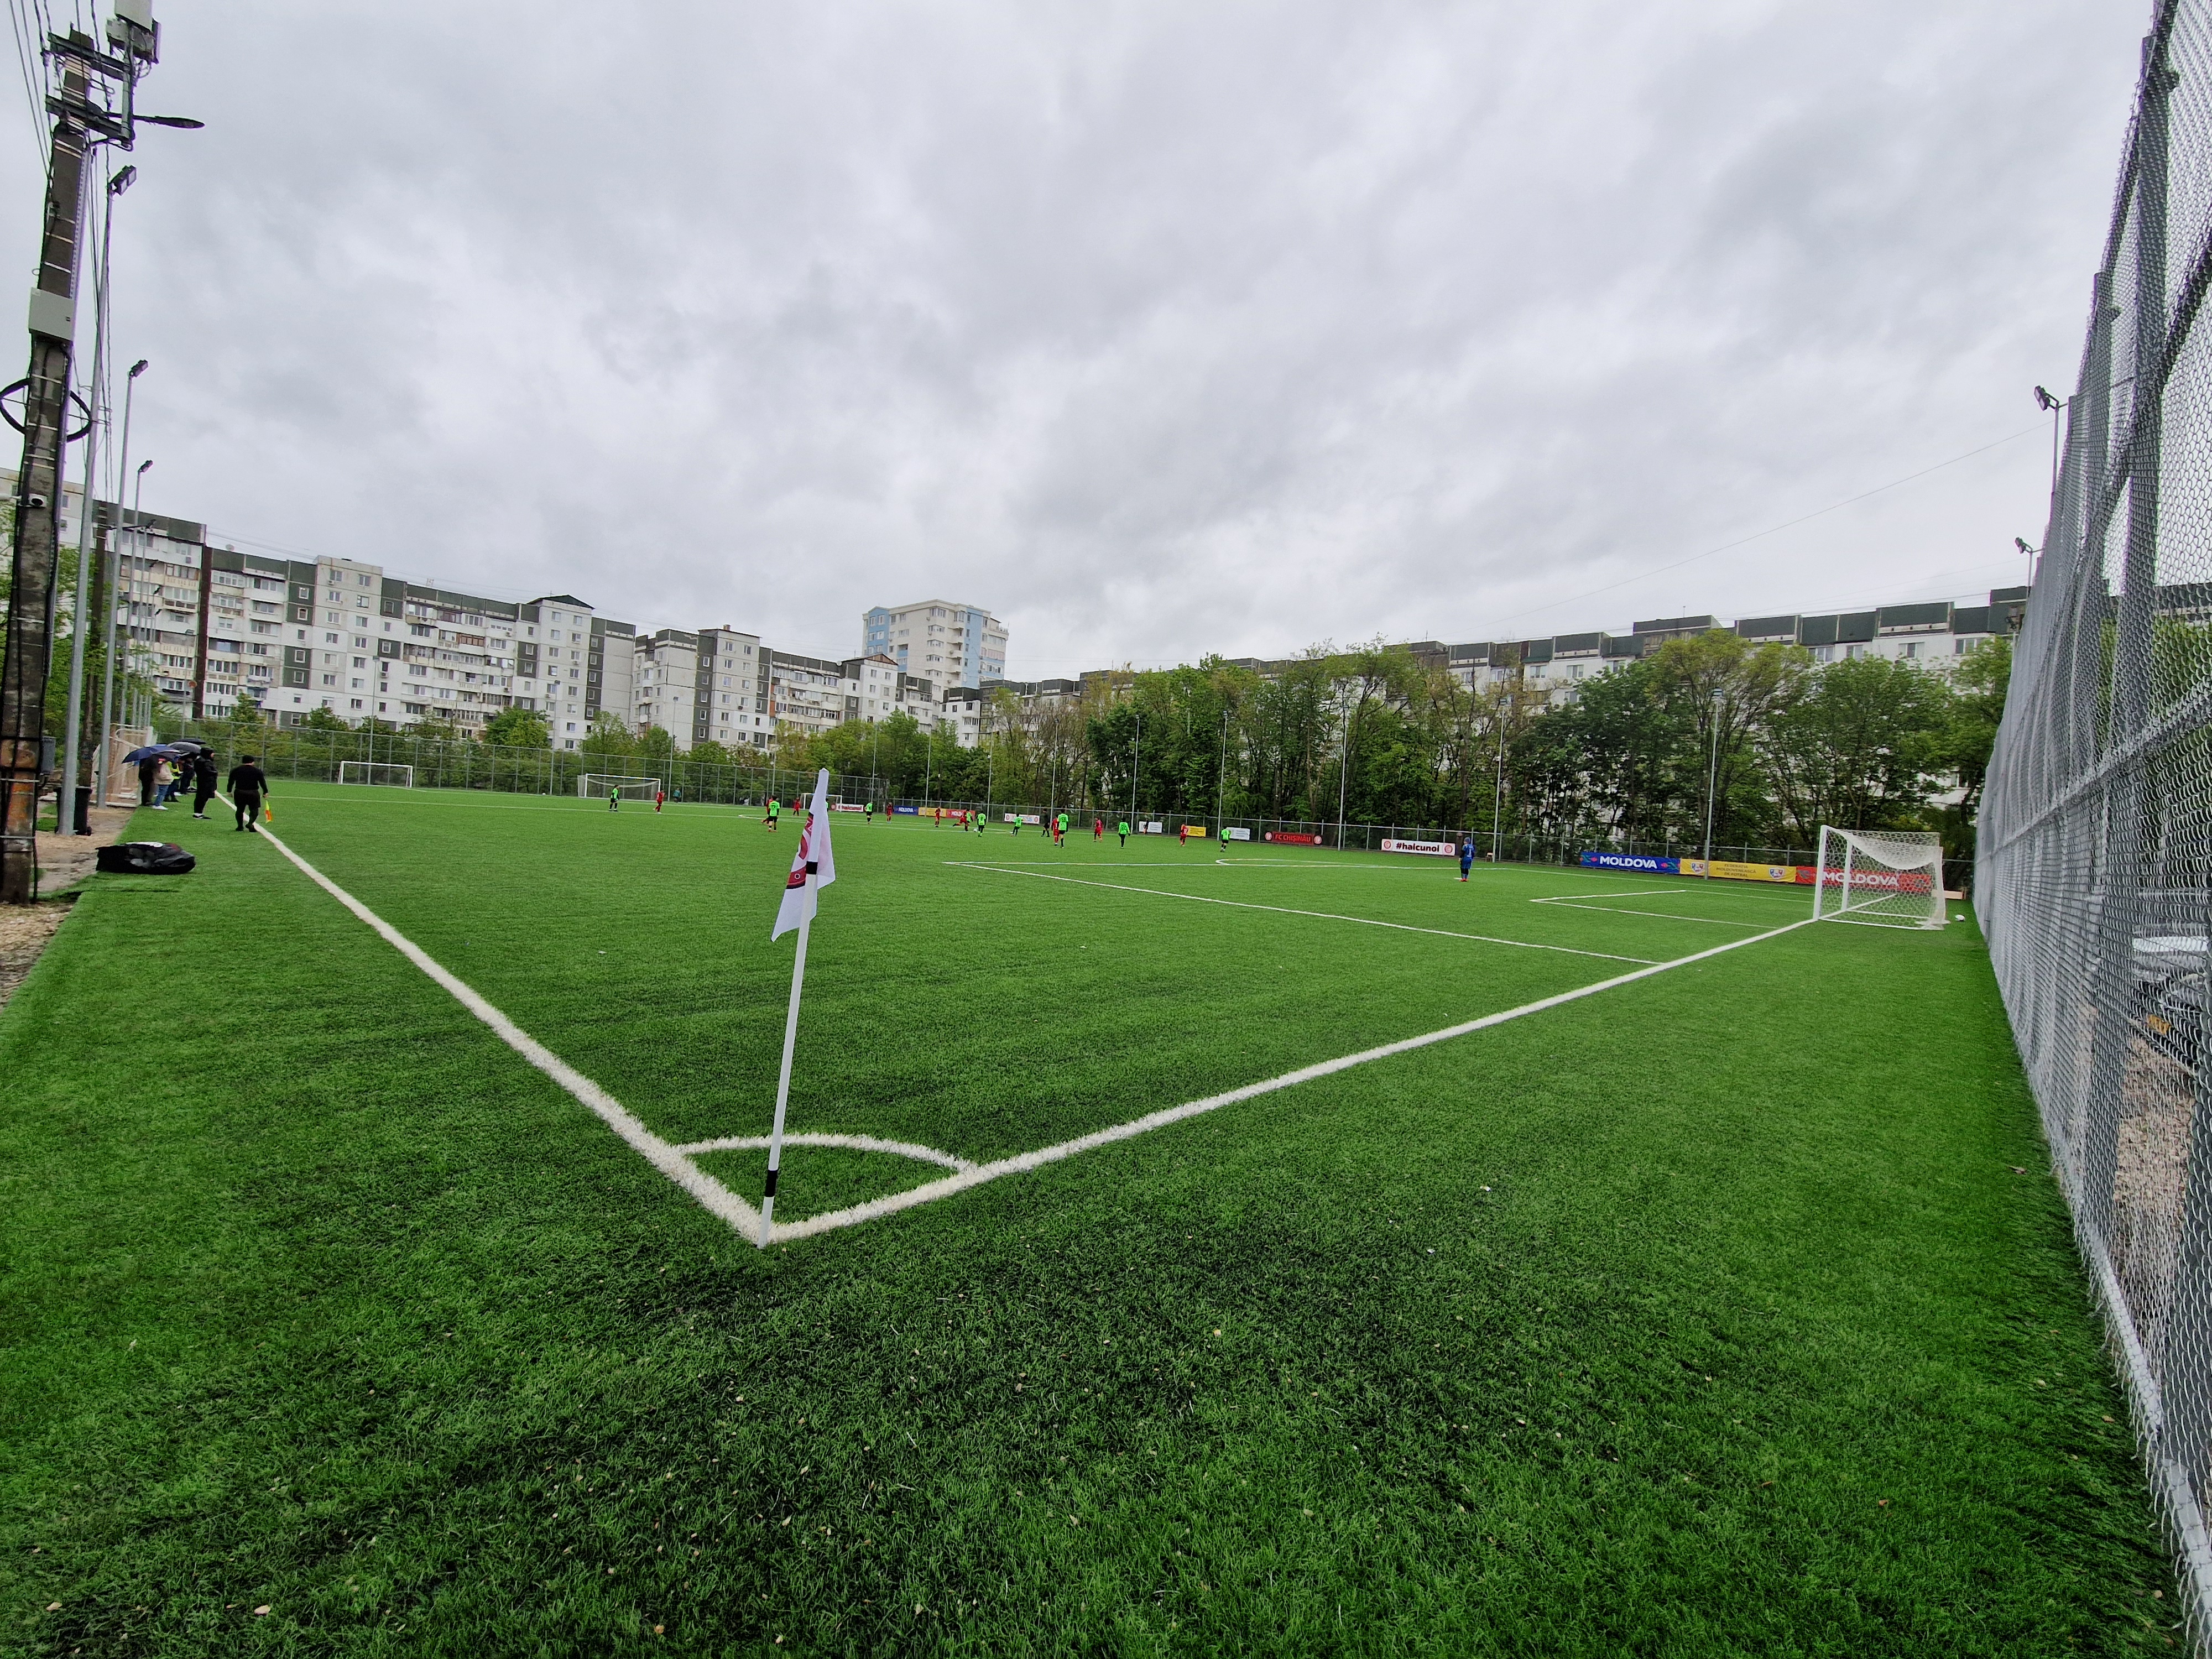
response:
[[[108,38],[122,58],[71,31],[49,40],[62,86],[46,100],[53,150],[46,166],[46,232],[31,290],[31,372],[22,383],[22,465],[15,469],[7,657],[0,659],[0,905],[38,898],[38,781],[53,668],[53,580],[62,540],[62,445],[77,332],[77,243],[84,232],[84,157],[102,139],[131,144],[131,93],[142,62],[155,60],[146,0],[117,0]],[[86,97],[86,75],[119,82],[124,108]],[[97,511],[82,502],[82,511]],[[77,595],[75,626],[86,626]],[[75,779],[69,779],[75,783]]]

